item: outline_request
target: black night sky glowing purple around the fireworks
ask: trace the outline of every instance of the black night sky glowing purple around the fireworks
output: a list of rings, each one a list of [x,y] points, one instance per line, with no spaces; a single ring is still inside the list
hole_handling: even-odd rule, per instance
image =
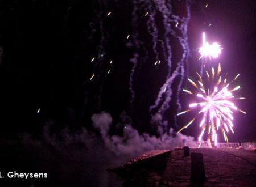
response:
[[[139,32],[144,33],[142,40],[148,54],[139,52],[144,60],[134,74],[135,100],[130,105],[130,59],[135,51],[131,41],[132,8],[129,1],[1,1],[1,139],[17,138],[24,132],[40,138],[49,121],[53,121],[56,131],[82,126],[93,129],[90,118],[101,111],[112,115],[113,124],[125,111],[140,133],[156,134],[150,125],[148,108],[163,84],[166,66],[165,62],[157,68],[152,66],[155,57],[151,37],[143,19],[139,20]],[[184,5],[176,2],[174,11],[183,15]],[[210,63],[222,63],[230,79],[240,73],[237,84],[242,89],[237,94],[247,100],[237,101],[237,105],[247,114],[235,114],[236,133],[230,136],[231,141],[256,139],[255,13],[253,0],[191,3],[186,76],[195,77],[200,69],[198,49],[203,31],[210,41],[218,41],[224,48],[220,57]],[[171,45],[175,60],[181,49],[175,41]],[[163,52],[159,54],[163,56]],[[183,87],[187,86],[184,80]],[[180,99],[185,109],[189,98],[181,93]],[[180,119],[175,126],[175,102],[170,103],[163,117],[169,128],[177,130],[188,118]],[[184,134],[196,136],[198,131],[191,128]]]

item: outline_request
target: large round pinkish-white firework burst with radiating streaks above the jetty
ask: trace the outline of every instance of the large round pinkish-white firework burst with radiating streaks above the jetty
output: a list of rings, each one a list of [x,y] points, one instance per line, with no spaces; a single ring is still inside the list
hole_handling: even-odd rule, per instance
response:
[[[180,112],[177,116],[187,113],[189,111],[197,111],[197,116],[188,122],[187,125],[183,126],[181,130],[187,128],[194,121],[197,121],[196,118],[201,118],[199,122],[199,127],[201,128],[201,133],[199,135],[198,141],[201,141],[205,132],[211,137],[215,145],[217,145],[217,133],[221,131],[224,136],[225,141],[228,142],[227,133],[233,130],[233,112],[240,111],[245,114],[244,111],[238,109],[233,103],[236,99],[245,99],[244,97],[236,98],[233,95],[234,91],[239,90],[240,86],[235,86],[233,88],[230,85],[238,78],[238,74],[230,83],[226,83],[226,78],[221,77],[221,65],[218,65],[217,71],[212,68],[211,74],[206,73],[207,79],[203,79],[197,73],[199,80],[193,81],[188,79],[193,87],[196,88],[196,92],[189,90],[183,90],[188,94],[196,96],[198,100],[195,103],[189,104],[189,109],[186,111]],[[205,75],[205,76],[206,76]],[[195,94],[194,94],[195,93]]]

